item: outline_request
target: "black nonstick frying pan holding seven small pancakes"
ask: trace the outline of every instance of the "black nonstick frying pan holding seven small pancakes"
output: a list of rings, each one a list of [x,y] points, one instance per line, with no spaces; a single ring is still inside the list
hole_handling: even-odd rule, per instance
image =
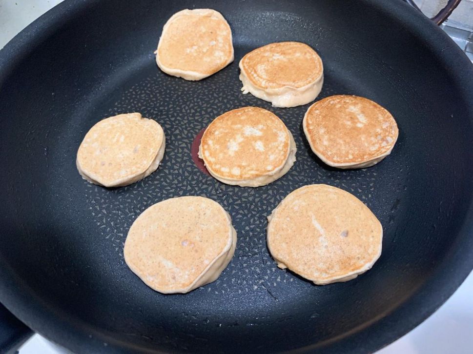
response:
[[[212,7],[228,20],[235,62],[189,82],[154,62],[165,21]],[[311,153],[290,109],[243,96],[238,61],[263,44],[298,40],[325,64],[319,98],[364,96],[400,135],[362,170]],[[430,20],[392,1],[68,0],[0,53],[0,300],[34,331],[74,352],[372,352],[432,314],[472,270],[473,68]],[[193,162],[198,133],[223,112],[266,108],[294,135],[297,161],[259,188],[218,182]],[[141,112],[165,129],[158,171],[118,189],[84,181],[77,148],[99,119]],[[314,286],[280,270],[266,216],[311,183],[345,189],[384,228],[364,275]],[[186,295],[146,287],[123,262],[123,241],[148,206],[181,195],[223,205],[238,232],[219,279]]]

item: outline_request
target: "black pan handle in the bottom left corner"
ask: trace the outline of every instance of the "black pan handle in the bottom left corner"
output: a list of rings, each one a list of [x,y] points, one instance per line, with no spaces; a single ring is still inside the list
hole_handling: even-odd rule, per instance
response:
[[[15,353],[33,334],[0,303],[0,353]]]

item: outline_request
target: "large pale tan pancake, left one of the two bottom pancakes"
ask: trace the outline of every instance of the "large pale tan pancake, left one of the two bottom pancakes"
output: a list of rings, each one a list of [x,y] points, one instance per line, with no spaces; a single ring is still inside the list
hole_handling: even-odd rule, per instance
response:
[[[150,288],[187,293],[216,280],[235,252],[236,232],[219,203],[177,197],[150,206],[131,225],[123,256]]]

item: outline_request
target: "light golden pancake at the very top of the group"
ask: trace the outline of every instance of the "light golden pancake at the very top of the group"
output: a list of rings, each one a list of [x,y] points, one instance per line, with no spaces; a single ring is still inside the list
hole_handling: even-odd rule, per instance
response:
[[[204,79],[233,61],[230,26],[215,10],[179,11],[164,25],[155,54],[166,74]]]

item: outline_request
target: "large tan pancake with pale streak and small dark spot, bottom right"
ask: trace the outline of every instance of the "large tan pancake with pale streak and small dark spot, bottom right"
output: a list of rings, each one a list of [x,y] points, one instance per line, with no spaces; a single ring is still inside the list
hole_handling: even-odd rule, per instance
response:
[[[296,189],[268,216],[267,246],[278,267],[317,285],[369,270],[382,238],[381,223],[365,204],[326,184]]]

